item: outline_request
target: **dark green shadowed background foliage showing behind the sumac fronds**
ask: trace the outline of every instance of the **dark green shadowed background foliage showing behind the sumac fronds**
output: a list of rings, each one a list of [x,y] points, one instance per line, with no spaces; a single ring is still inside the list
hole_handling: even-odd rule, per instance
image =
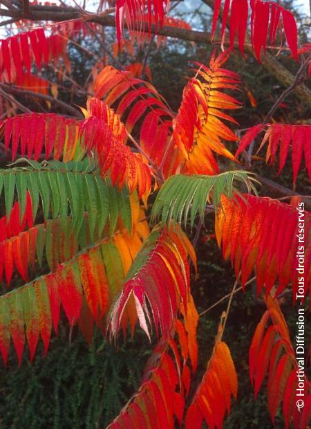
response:
[[[197,15],[197,19],[202,19],[206,25],[209,17],[200,15],[200,12]],[[301,32],[302,37],[306,37],[302,27]],[[115,35],[111,33],[107,33],[106,37],[111,39],[111,43],[115,39]],[[86,49],[92,44],[92,51],[101,55],[100,46],[96,47],[93,39],[91,41],[86,38],[79,42]],[[176,111],[180,104],[182,89],[187,82],[189,62],[205,62],[210,53],[211,50],[206,46],[194,47],[189,42],[169,42],[160,50],[153,44],[148,60],[153,84],[167,99],[173,111]],[[70,46],[69,57],[73,65],[73,78],[83,85],[95,60],[83,54],[76,46]],[[144,60],[144,53],[138,52],[135,60]],[[285,61],[282,58],[279,60]],[[112,63],[113,61],[111,60]],[[117,59],[119,66],[129,64],[129,61],[133,60],[126,54]],[[286,65],[288,68],[292,66],[290,62]],[[253,58],[247,57],[244,60],[240,55],[233,56],[227,67],[241,74],[245,84],[244,91],[238,96],[239,100],[243,101],[244,108],[238,111],[235,117],[241,128],[252,126],[263,119],[265,112],[270,109],[283,88]],[[256,97],[256,107],[252,107],[245,89]],[[78,105],[85,104],[85,99],[78,92],[66,91],[66,82],[59,98]],[[31,105],[29,107],[32,108]],[[285,122],[299,117],[304,119],[305,123],[310,123],[310,113],[308,108],[303,107],[299,100],[291,95],[279,109],[278,116]],[[274,177],[276,174],[276,167],[265,167],[264,161],[258,162],[255,171],[262,173],[263,170],[266,177]],[[290,173],[283,174],[279,182],[290,187]],[[299,178],[298,183],[297,191],[310,194],[311,188],[307,180]],[[229,264],[223,262],[216,242],[208,235],[212,221],[210,218],[210,224],[207,223],[206,241],[201,241],[198,245],[198,278],[192,286],[194,299],[199,303],[199,313],[222,298],[225,293],[229,293],[234,283]],[[288,325],[293,328],[295,320],[290,295],[285,295],[283,300],[287,306],[285,308],[288,309]],[[220,313],[225,306],[226,302],[223,302],[200,318],[198,340],[202,347],[196,374],[198,381],[205,370]],[[248,289],[245,294],[238,293],[232,304],[225,340],[229,340],[232,357],[240,376],[239,399],[234,403],[232,414],[225,421],[225,428],[274,427],[268,414],[265,393],[261,393],[256,402],[253,401],[254,393],[247,369],[247,349],[263,309],[264,303],[254,299],[252,289]],[[115,348],[106,343],[97,332],[93,344],[88,347],[75,329],[71,333],[68,325],[64,323],[59,336],[51,341],[46,358],[41,358],[39,353],[32,365],[23,358],[21,367],[17,367],[15,356],[10,354],[8,367],[0,367],[1,428],[104,427],[135,392],[151,350],[142,333],[138,331],[133,340],[127,339]],[[282,421],[277,417],[276,428],[282,427]]]

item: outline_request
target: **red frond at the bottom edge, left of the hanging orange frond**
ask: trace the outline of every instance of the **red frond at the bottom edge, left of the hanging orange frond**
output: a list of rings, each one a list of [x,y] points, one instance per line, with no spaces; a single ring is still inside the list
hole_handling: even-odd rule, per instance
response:
[[[140,389],[107,429],[173,428],[175,419],[181,425],[189,385],[180,374],[190,376],[175,341],[160,340],[147,362]]]

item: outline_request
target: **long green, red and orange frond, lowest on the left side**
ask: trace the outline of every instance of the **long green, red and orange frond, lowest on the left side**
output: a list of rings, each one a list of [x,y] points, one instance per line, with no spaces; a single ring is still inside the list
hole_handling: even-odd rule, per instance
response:
[[[59,323],[60,304],[71,326],[79,322],[83,329],[82,305],[85,300],[89,309],[88,323],[102,327],[104,316],[111,302],[119,293],[124,281],[124,258],[135,257],[140,250],[144,231],[138,230],[131,239],[125,231],[117,232],[113,239],[102,239],[91,248],[77,253],[72,259],[59,264],[53,273],[37,277],[34,281],[14,289],[0,297],[0,351],[6,363],[12,336],[19,363],[26,338],[30,347],[30,359],[35,354],[39,335],[45,352],[50,342],[52,325],[55,332]],[[125,247],[124,247],[125,243]],[[132,329],[137,316],[129,302],[124,321],[130,320]],[[123,324],[123,322],[122,322]]]

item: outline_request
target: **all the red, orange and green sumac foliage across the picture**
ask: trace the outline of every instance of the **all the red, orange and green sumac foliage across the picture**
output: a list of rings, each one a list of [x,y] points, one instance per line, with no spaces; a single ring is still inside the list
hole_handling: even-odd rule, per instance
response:
[[[310,203],[299,194],[286,203],[292,192],[284,201],[274,199],[264,187],[259,197],[263,179],[250,170],[258,159],[252,156],[256,139],[263,133],[258,151],[266,146],[266,161],[279,163],[278,174],[288,168],[290,154],[294,185],[301,176],[310,181],[311,128],[299,118],[294,124],[276,122],[272,108],[262,123],[239,130],[234,118],[243,109],[238,91],[247,83],[241,85],[227,64],[236,42],[242,55],[246,42],[257,60],[269,44],[300,61],[297,73],[303,71],[306,78],[310,46],[299,48],[294,15],[279,3],[216,0],[210,30],[214,37],[219,22],[223,52],[214,50],[207,64],[191,64],[180,107],[173,111],[151,83],[149,53],[155,37],[158,49],[167,35],[180,31],[192,40],[190,24],[168,15],[168,0],[98,3],[95,14],[27,1],[19,9],[16,3],[13,27],[18,31],[1,40],[0,97],[1,107],[7,107],[0,118],[3,362],[8,362],[11,345],[19,365],[26,355],[32,361],[40,341],[46,354],[63,313],[70,334],[77,326],[90,344],[94,329],[117,343],[120,332],[123,338],[134,336],[139,326],[156,345],[138,391],[108,427],[221,428],[238,406],[231,338],[223,339],[228,313],[238,283],[246,291],[256,282],[255,299],[267,310],[249,346],[255,397],[267,376],[272,423],[279,413],[286,428],[307,429],[307,356],[297,357],[296,334],[288,329],[281,307],[292,293],[290,304],[308,311]],[[42,21],[34,27],[36,17]],[[111,64],[102,30],[106,25],[116,27]],[[105,55],[82,87],[70,74],[67,48],[74,44],[89,55],[84,39],[92,37]],[[146,46],[142,62],[135,55]],[[115,60],[122,48],[133,58],[123,69]],[[79,110],[68,104],[69,96],[63,97],[66,102],[58,98],[68,82],[71,95],[76,91],[84,99]],[[21,101],[12,96],[18,98],[18,91]],[[247,93],[256,108],[254,95]],[[283,95],[279,100],[287,92]],[[213,333],[211,353],[204,356],[204,374],[199,374],[198,356],[207,347],[198,341],[197,329],[209,309],[199,316],[191,285],[196,244],[211,212],[210,237],[231,262],[236,282],[231,294],[210,307],[229,300]],[[209,293],[212,298],[212,288]]]

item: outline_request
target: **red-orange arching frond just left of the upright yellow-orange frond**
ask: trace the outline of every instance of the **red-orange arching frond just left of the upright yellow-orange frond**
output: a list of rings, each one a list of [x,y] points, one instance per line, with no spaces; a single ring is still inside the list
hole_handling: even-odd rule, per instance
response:
[[[142,120],[140,145],[159,167],[169,142],[173,113],[155,87],[132,77],[129,71],[118,71],[106,66],[95,80],[94,94],[97,98],[104,98],[110,107],[117,105],[115,111],[130,133]],[[164,165],[166,176],[171,171],[175,172],[178,166],[172,161],[172,152],[173,147]]]

